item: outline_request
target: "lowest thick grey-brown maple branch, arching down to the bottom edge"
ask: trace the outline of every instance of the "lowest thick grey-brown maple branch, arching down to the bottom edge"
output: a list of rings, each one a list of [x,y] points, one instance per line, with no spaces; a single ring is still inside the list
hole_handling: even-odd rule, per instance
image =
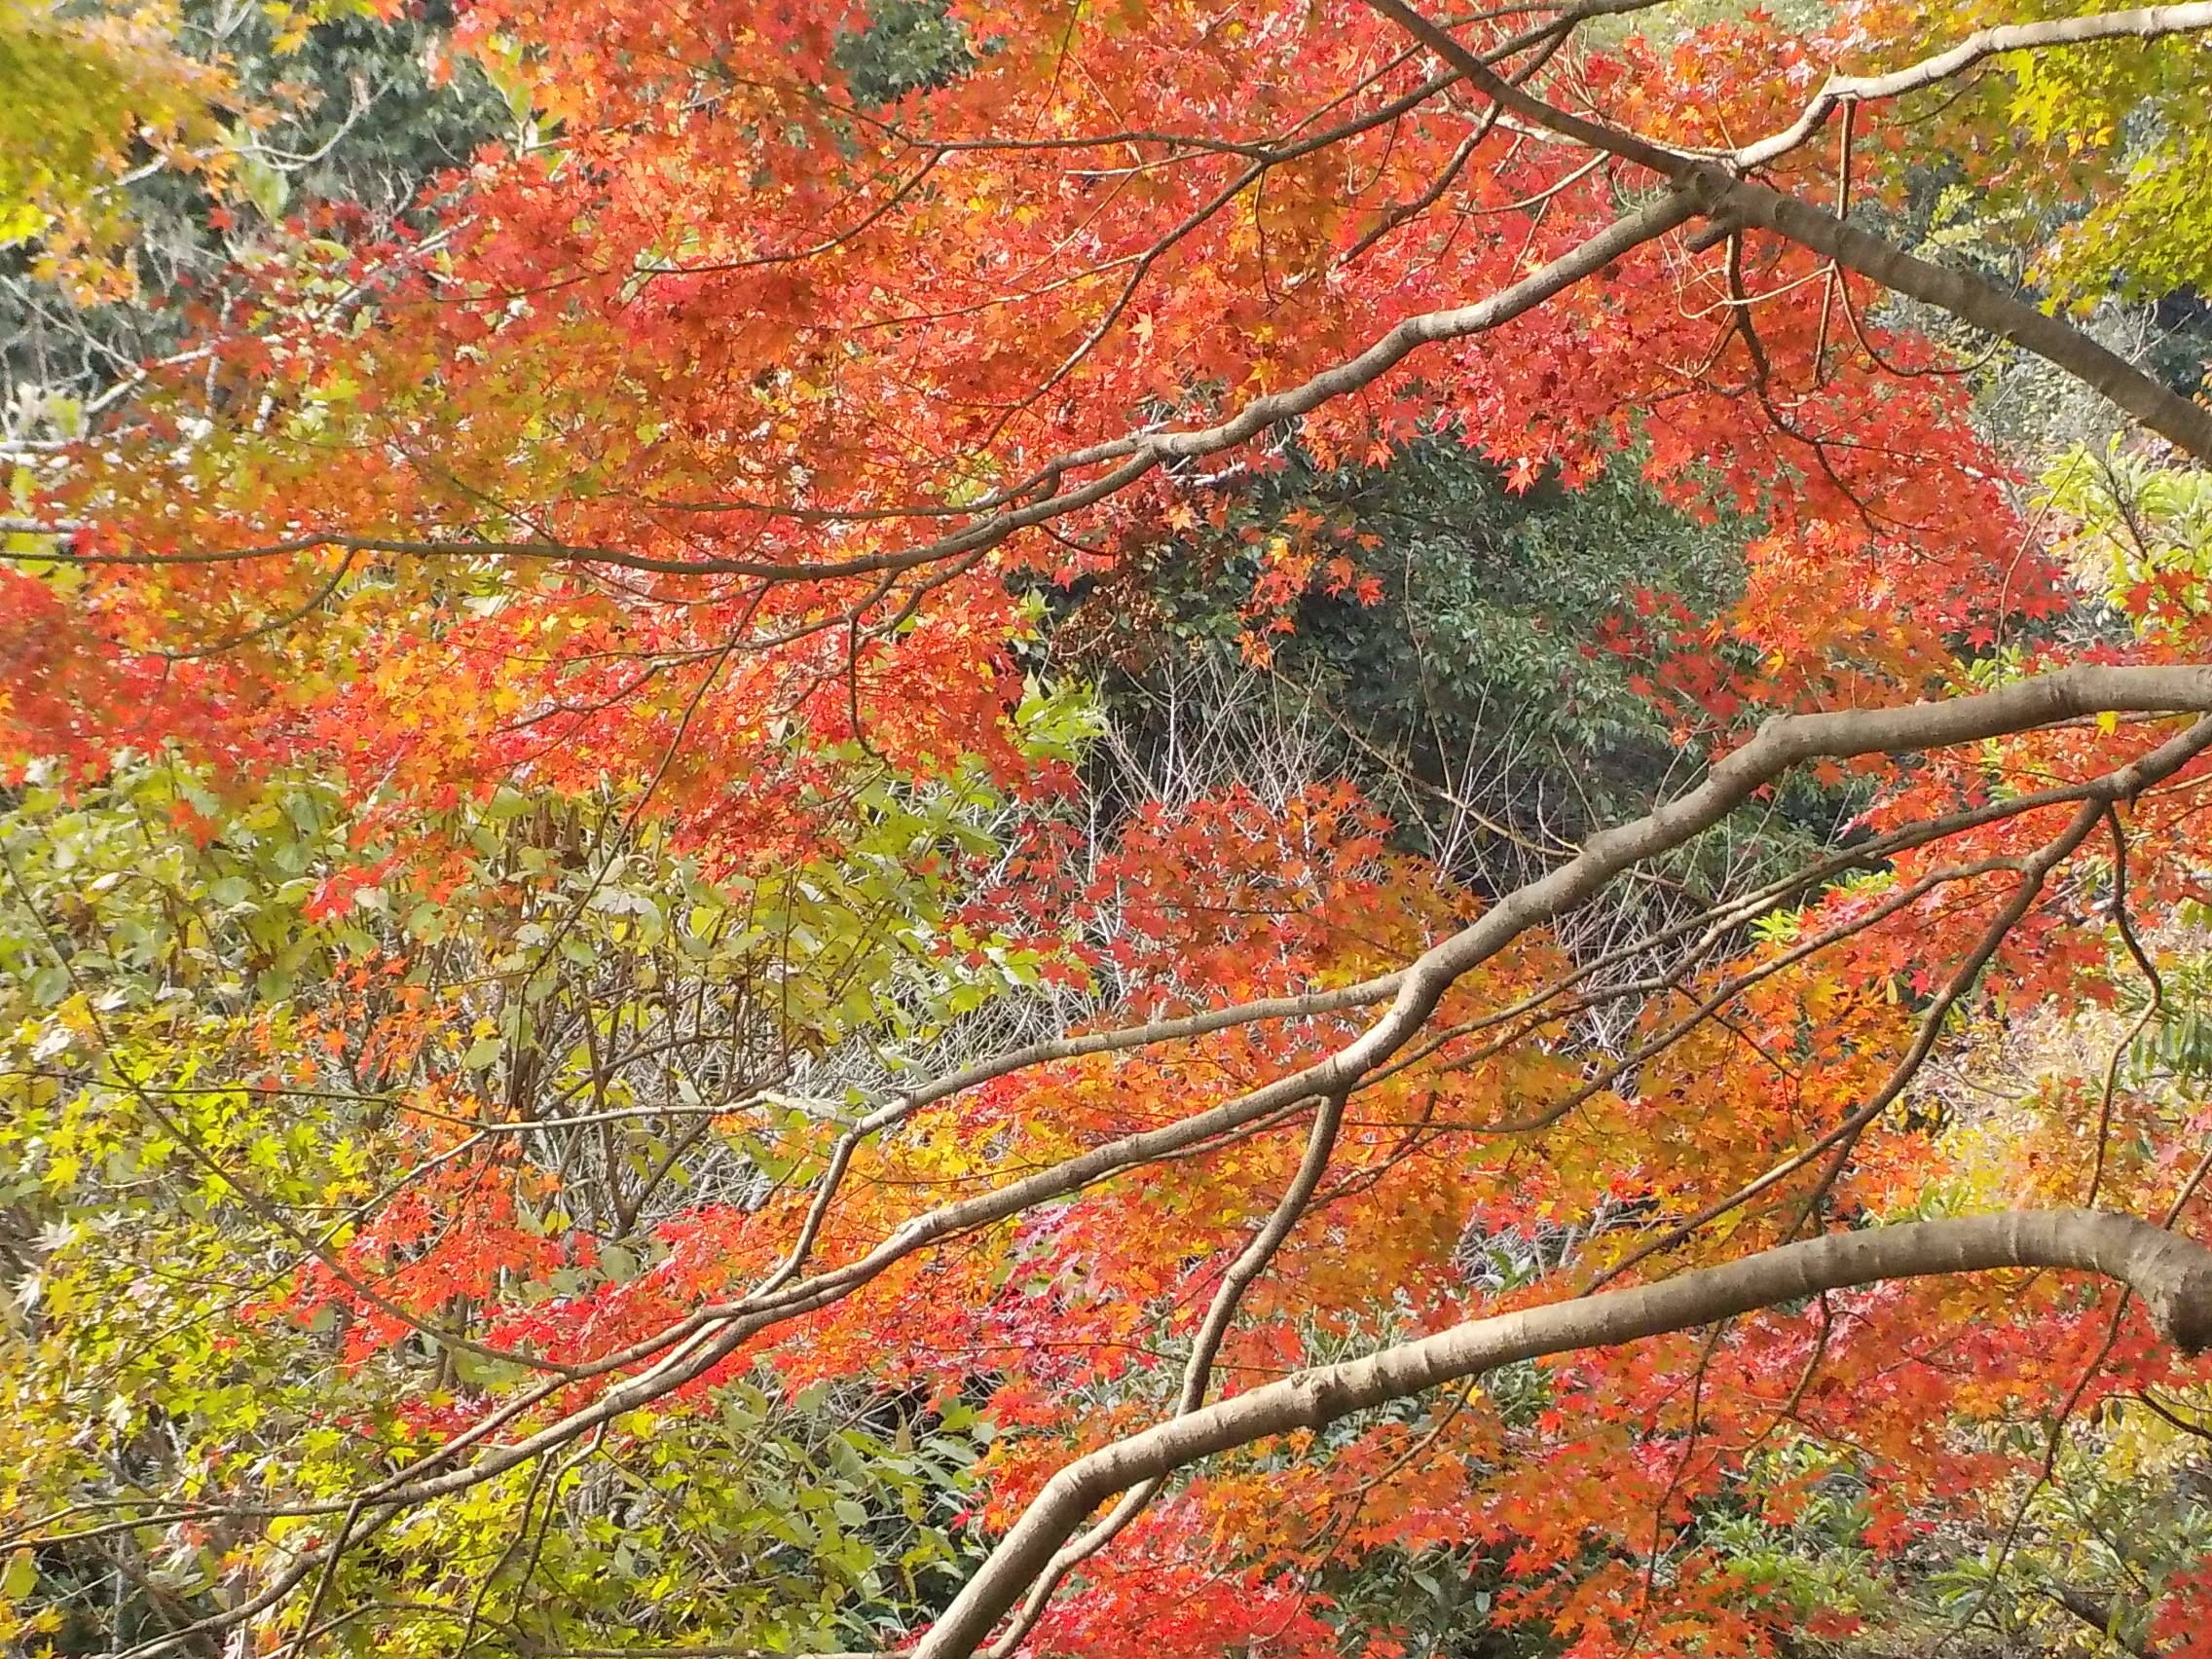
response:
[[[1294,1429],[1318,1429],[1352,1411],[1515,1360],[1697,1329],[1825,1290],[1993,1267],[2101,1274],[2141,1296],[2159,1332],[2183,1354],[2212,1347],[2212,1250],[2148,1221],[2093,1210],[2015,1210],[1832,1232],[1655,1285],[1478,1318],[1363,1360],[1301,1371],[1077,1458],[1046,1482],[914,1655],[973,1655],[1102,1500],[1199,1458]]]

